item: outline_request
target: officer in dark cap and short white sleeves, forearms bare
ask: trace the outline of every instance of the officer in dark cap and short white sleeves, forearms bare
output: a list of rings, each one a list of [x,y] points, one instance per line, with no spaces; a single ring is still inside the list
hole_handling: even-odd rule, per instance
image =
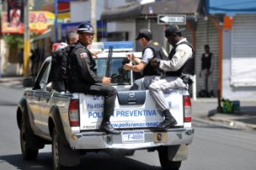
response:
[[[143,78],[137,79],[134,82],[134,87],[131,89],[147,89],[156,76],[160,76],[160,69],[154,68],[149,63],[150,60],[154,58],[164,59],[165,52],[160,44],[158,42],[154,42],[152,38],[153,34],[150,30],[141,29],[136,40],[140,41],[140,44],[143,47],[143,58],[138,59],[134,54],[127,56],[128,59],[131,59],[137,65],[125,64],[125,70],[143,72]]]

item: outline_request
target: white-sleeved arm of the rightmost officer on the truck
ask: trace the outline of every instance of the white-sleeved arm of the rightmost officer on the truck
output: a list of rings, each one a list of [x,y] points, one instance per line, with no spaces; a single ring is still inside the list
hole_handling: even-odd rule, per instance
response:
[[[177,71],[192,57],[192,54],[192,48],[188,45],[179,45],[171,60],[160,60],[160,69],[164,71]]]

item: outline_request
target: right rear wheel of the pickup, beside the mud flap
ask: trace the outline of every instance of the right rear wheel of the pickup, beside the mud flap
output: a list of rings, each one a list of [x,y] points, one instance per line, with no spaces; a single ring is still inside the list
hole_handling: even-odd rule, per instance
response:
[[[160,164],[163,169],[178,170],[181,166],[182,161],[170,161],[168,159],[168,148],[167,146],[162,146],[158,149],[158,155],[160,159]]]

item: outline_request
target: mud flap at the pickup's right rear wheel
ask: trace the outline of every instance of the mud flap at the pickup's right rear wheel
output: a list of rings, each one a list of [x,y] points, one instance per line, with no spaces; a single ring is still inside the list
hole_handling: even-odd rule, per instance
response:
[[[188,144],[168,146],[168,159],[170,161],[184,161],[188,158]]]

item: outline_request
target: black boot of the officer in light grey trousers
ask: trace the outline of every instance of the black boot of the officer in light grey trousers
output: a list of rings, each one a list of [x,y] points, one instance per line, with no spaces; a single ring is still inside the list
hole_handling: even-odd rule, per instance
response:
[[[156,127],[156,130],[159,130],[159,131],[165,131],[167,128],[174,127],[175,125],[177,125],[177,121],[172,116],[169,110],[166,110],[163,112],[164,112],[165,120],[161,122],[160,126]]]

